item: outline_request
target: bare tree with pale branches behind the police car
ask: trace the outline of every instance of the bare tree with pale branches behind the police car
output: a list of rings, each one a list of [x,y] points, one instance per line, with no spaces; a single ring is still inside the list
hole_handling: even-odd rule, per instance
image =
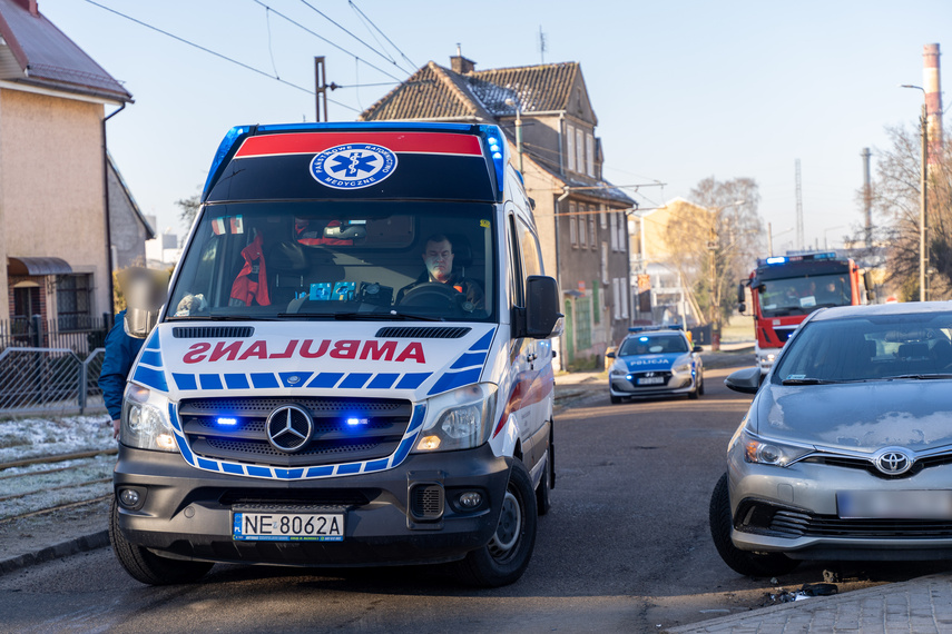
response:
[[[701,210],[680,207],[666,228],[669,252],[713,325],[719,346],[720,326],[730,319],[736,295],[730,291],[764,252],[760,194],[750,178],[701,180],[689,195]]]

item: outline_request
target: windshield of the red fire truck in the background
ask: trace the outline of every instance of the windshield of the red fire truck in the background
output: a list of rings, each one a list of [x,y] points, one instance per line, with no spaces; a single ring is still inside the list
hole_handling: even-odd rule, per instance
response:
[[[850,278],[836,274],[768,279],[760,283],[758,299],[764,317],[802,315],[823,306],[850,306]]]

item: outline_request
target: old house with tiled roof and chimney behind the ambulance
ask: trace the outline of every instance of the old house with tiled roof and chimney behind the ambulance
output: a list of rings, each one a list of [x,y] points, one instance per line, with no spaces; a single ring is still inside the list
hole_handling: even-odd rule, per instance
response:
[[[522,174],[536,202],[548,274],[563,294],[561,367],[600,367],[631,318],[626,215],[634,200],[602,178],[598,119],[578,62],[477,70],[461,55],[429,62],[360,119],[494,123],[516,143],[522,123]]]

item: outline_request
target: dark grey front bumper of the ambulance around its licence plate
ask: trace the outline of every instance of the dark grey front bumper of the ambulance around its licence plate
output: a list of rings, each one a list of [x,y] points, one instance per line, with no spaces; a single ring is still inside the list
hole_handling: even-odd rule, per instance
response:
[[[114,487],[144,493],[140,507],[119,508],[122,535],[158,554],[210,562],[300,566],[421,564],[460,559],[485,545],[499,522],[510,463],[489,445],[411,454],[373,474],[273,481],[198,470],[179,454],[120,446]],[[439,484],[439,518],[410,509],[414,485]],[[457,498],[478,491],[483,502],[463,509]],[[252,542],[232,538],[233,508],[268,504],[272,512],[343,513],[342,542]]]

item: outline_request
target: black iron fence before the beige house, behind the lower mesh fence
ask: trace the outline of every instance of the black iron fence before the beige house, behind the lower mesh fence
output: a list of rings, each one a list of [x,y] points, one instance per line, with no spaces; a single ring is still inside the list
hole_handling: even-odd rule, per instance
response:
[[[62,316],[57,319],[14,317],[0,319],[0,350],[10,347],[69,348],[80,357],[106,345],[111,327],[109,315]]]

